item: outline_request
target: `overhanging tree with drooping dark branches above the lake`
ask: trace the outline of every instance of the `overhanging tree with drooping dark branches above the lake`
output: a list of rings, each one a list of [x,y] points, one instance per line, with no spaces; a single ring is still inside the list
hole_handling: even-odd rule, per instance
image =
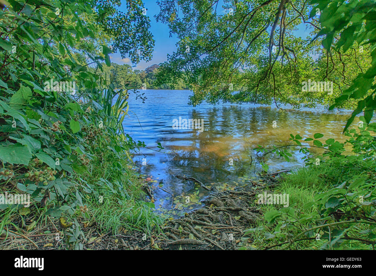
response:
[[[213,104],[274,102],[293,108],[333,104],[355,77],[343,68],[361,70],[358,53],[344,55],[339,49],[322,48],[317,36],[324,34],[320,14],[327,16],[325,7],[331,1],[320,2],[318,7],[314,7],[315,1],[307,2],[234,0],[224,1],[221,8],[212,0],[159,1],[161,12],[156,19],[168,24],[179,42],[178,50],[160,65],[157,83],[173,85],[185,79],[193,87],[193,105],[204,100]],[[351,7],[355,2],[338,3]],[[298,26],[308,27],[311,36],[294,35]],[[369,67],[366,63],[362,66]],[[345,74],[347,78],[343,78]],[[304,91],[302,82],[308,79],[333,82],[333,93]],[[337,106],[346,104],[341,101]]]

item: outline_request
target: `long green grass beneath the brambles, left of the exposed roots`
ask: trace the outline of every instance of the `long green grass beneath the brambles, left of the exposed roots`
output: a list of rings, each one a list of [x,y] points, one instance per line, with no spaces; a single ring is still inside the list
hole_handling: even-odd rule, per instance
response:
[[[108,158],[111,159],[111,153],[109,155]],[[114,234],[119,228],[149,233],[155,227],[159,229],[163,220],[145,204],[143,184],[138,174],[131,169],[130,162],[125,158],[121,161],[121,167],[121,170],[114,170],[112,165],[97,164],[96,170],[91,173],[103,175],[104,172],[102,178],[112,183],[113,190],[121,189],[121,185],[114,183],[123,184],[123,193],[118,195],[107,184],[97,182],[95,196],[86,197],[85,204],[95,217],[97,225],[102,231],[112,231]],[[95,183],[97,179],[89,181]]]

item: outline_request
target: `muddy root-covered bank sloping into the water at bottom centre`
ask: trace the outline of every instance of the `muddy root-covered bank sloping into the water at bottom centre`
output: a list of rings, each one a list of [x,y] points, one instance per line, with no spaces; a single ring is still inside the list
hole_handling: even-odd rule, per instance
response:
[[[270,191],[277,182],[275,176],[268,176],[241,187],[218,190],[214,186],[202,200],[202,208],[169,220],[162,233],[106,236],[88,249],[237,250],[244,231],[263,219],[261,207],[255,204],[257,195]]]

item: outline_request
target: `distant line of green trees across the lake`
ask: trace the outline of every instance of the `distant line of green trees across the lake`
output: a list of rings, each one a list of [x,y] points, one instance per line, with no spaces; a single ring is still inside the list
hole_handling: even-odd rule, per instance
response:
[[[146,86],[146,89],[190,89],[187,84],[183,83],[183,80],[177,80],[174,87],[170,84],[155,84],[155,74],[158,72],[159,65],[153,64],[147,67],[145,70],[132,70],[132,66],[129,64],[119,65],[111,62],[111,66],[108,67],[105,63],[103,65],[102,77],[108,80],[112,80],[117,84],[116,88],[124,88],[126,84],[128,89],[136,88],[140,89],[142,86]]]

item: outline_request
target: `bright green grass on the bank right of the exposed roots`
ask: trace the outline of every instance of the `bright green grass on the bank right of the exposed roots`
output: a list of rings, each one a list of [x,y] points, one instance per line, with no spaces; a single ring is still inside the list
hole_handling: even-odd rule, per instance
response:
[[[319,216],[317,207],[311,207],[307,210],[302,208],[303,205],[307,202],[313,201],[316,193],[330,189],[332,185],[336,185],[341,181],[341,178],[344,178],[351,173],[352,172],[344,173],[338,169],[331,170],[323,166],[302,167],[294,170],[290,174],[283,175],[279,184],[274,187],[273,193],[288,194],[289,205],[300,210],[300,214],[296,214],[298,218],[300,218],[302,214],[308,217]],[[261,205],[261,210],[264,214],[268,211],[279,210],[280,208],[283,208],[282,205]],[[275,233],[276,224],[268,225],[267,221],[264,219],[258,220],[257,224],[252,226],[252,228],[259,228],[261,230],[251,232],[244,236],[243,245],[248,248],[252,246],[257,249],[264,249],[265,247],[288,241],[288,233],[293,234],[294,236],[299,234],[297,228],[290,228],[288,231],[287,227],[284,225],[280,228],[280,233]],[[353,236],[360,237],[361,235],[359,235],[359,232],[365,229],[367,229],[367,226],[359,223],[358,225],[353,226],[352,230],[349,231],[349,234],[351,233]],[[275,237],[267,239],[268,234],[265,235],[265,233],[273,234]],[[363,236],[367,238],[367,235]],[[247,240],[247,238],[250,238],[250,240]],[[291,245],[290,249],[317,250],[326,242],[327,240],[325,239],[297,241]],[[282,247],[276,246],[271,249],[280,249]],[[358,241],[346,241],[346,245],[340,247],[340,249],[372,249],[372,247]]]

